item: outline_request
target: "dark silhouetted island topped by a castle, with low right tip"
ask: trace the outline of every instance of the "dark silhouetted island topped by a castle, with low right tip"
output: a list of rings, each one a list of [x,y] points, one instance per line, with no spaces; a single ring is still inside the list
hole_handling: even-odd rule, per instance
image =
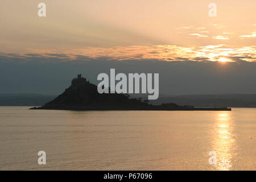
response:
[[[228,110],[228,107],[180,106],[175,103],[152,105],[148,100],[131,98],[125,93],[98,93],[97,86],[78,75],[71,86],[54,100],[30,109],[47,110]]]

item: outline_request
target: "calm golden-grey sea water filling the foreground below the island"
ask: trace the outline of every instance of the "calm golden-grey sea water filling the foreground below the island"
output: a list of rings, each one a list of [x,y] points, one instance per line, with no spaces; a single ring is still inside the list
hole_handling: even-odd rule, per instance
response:
[[[256,169],[256,109],[61,111],[0,107],[0,169]],[[38,164],[38,151],[47,164]],[[210,165],[209,151],[217,153]]]

